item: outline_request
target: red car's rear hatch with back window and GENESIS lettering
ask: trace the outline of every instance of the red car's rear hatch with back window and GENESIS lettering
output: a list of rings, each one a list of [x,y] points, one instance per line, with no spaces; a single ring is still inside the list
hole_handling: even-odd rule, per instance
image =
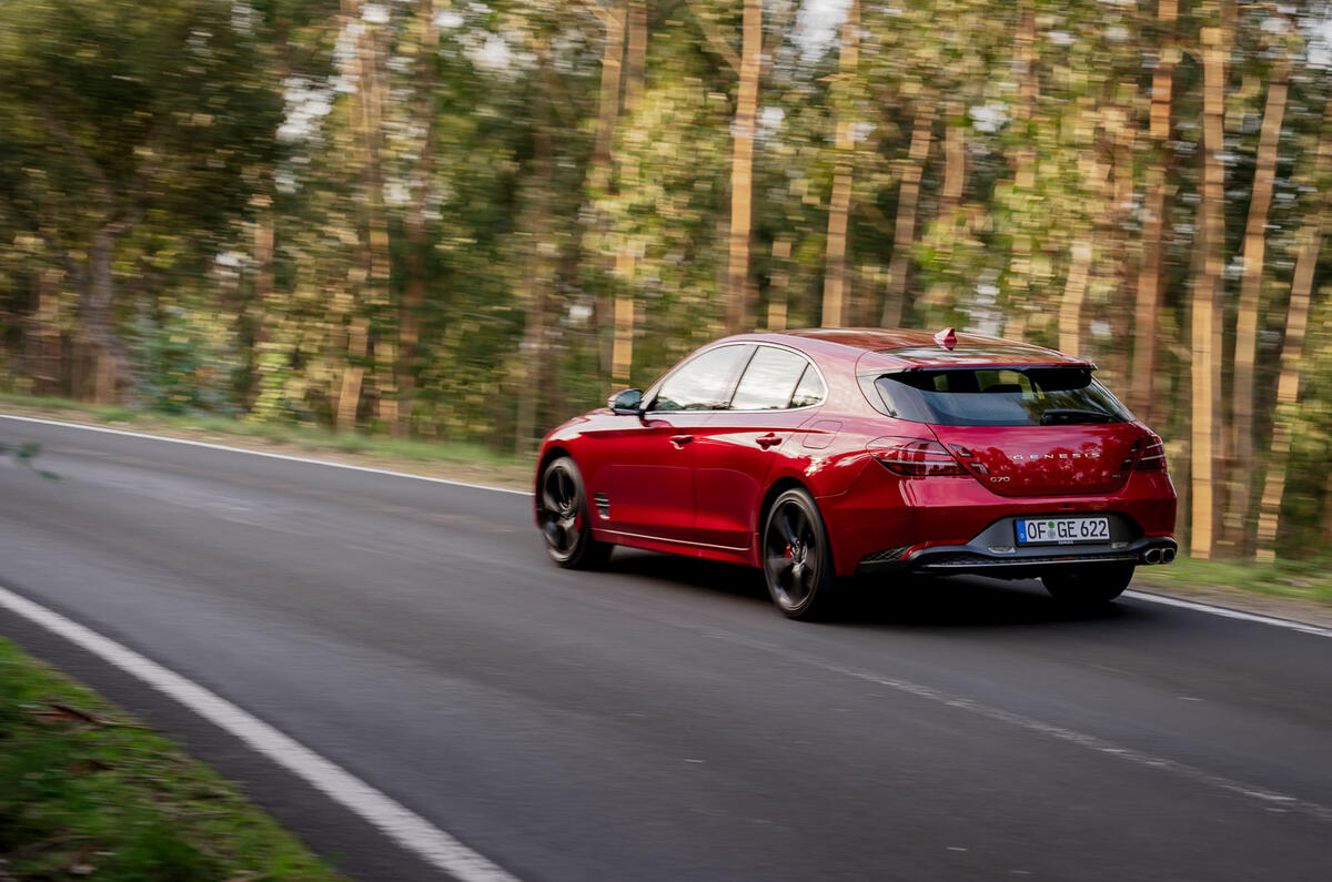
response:
[[[1091,366],[915,369],[879,376],[874,389],[1000,496],[1114,492],[1148,437]]]

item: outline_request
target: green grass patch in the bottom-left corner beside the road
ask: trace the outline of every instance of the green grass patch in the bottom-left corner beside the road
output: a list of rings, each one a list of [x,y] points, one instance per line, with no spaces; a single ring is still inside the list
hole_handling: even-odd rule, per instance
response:
[[[341,879],[240,789],[0,640],[0,881]]]

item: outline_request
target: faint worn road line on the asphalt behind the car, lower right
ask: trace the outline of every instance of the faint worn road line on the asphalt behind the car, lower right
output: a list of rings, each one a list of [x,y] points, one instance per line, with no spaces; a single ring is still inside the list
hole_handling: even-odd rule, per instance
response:
[[[705,633],[709,634],[710,637],[738,644],[741,646],[747,646],[750,649],[758,649],[761,652],[778,654],[787,661],[799,661],[832,674],[851,677],[876,686],[891,689],[898,693],[915,695],[916,698],[923,698],[936,705],[943,705],[944,707],[955,707],[958,710],[964,710],[967,713],[983,717],[986,719],[1007,723],[1010,726],[1016,726],[1019,729],[1024,729],[1027,731],[1032,731],[1040,735],[1047,735],[1050,738],[1055,738],[1058,741],[1063,741],[1066,743],[1071,743],[1083,747],[1086,750],[1092,750],[1095,753],[1123,759],[1139,767],[1151,769],[1155,771],[1168,771],[1171,774],[1179,775],[1180,778],[1192,781],[1195,783],[1213,787],[1216,790],[1221,790],[1233,795],[1244,797],[1247,799],[1252,799],[1269,811],[1293,811],[1313,818],[1316,821],[1321,821],[1323,823],[1332,823],[1332,807],[1325,806],[1320,802],[1300,799],[1299,797],[1292,797],[1285,793],[1279,793],[1268,787],[1251,785],[1244,781],[1236,781],[1233,778],[1227,778],[1225,775],[1219,775],[1216,773],[1207,771],[1205,769],[1199,769],[1197,766],[1191,766],[1188,763],[1179,762],[1176,759],[1159,757],[1156,754],[1146,753],[1143,750],[1135,750],[1134,747],[1124,747],[1111,741],[1106,741],[1104,738],[1100,738],[1098,735],[1092,735],[1084,731],[1078,731],[1076,729],[1068,729],[1058,723],[1046,722],[1044,719],[1038,719],[1035,717],[1019,714],[1012,710],[1004,710],[1003,707],[987,705],[974,698],[954,695],[951,693],[943,691],[942,689],[935,689],[934,686],[926,686],[923,683],[916,683],[910,679],[902,679],[899,677],[887,677],[884,674],[876,674],[871,670],[864,670],[862,667],[834,665],[815,656],[793,650],[790,646],[778,646],[775,644],[769,644],[761,640],[751,640],[725,630],[707,629],[705,630]]]

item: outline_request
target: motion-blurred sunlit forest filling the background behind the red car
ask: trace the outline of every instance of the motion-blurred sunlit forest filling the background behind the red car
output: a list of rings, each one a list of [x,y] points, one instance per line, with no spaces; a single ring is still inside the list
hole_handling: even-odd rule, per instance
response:
[[[531,450],[723,333],[1090,357],[1332,536],[1332,5],[4,0],[0,389]]]

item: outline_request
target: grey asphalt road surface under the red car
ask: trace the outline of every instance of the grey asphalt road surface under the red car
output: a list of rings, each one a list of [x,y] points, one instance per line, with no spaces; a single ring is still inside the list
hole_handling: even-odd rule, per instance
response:
[[[0,418],[0,585],[192,678],[523,879],[1325,879],[1332,640],[1030,582],[547,562],[525,496]],[[362,879],[438,878],[0,610]]]

